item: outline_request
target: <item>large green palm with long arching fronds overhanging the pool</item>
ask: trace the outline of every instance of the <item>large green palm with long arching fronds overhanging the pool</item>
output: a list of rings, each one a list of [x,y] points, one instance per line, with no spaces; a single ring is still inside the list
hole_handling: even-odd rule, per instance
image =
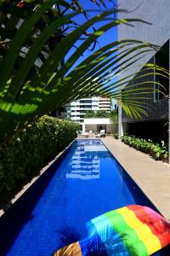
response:
[[[23,8],[26,2],[31,5]],[[72,69],[86,49],[112,27],[145,21],[117,20],[115,14],[124,10],[114,8],[100,10],[98,15],[77,26],[74,18],[87,14],[78,1],[72,1],[74,4],[65,0],[42,2],[6,0],[0,3],[0,140],[10,137],[44,113],[84,96],[114,97],[129,116],[139,117],[140,113],[146,113],[144,108],[147,107],[135,98],[133,88],[122,94],[124,84],[133,79],[134,74],[119,81],[116,78],[137,59],[156,50],[156,45],[133,39],[116,41],[96,49]],[[105,6],[104,1],[99,2]],[[68,12],[61,14],[54,4]],[[104,20],[105,25],[94,28],[96,23]],[[68,29],[63,37],[65,26],[74,27],[74,30]],[[94,31],[88,33],[90,27]],[[82,35],[87,37],[63,61]],[[161,67],[147,64],[144,68],[168,76]],[[151,92],[147,84],[143,90]],[[144,91],[140,90],[140,96]]]

